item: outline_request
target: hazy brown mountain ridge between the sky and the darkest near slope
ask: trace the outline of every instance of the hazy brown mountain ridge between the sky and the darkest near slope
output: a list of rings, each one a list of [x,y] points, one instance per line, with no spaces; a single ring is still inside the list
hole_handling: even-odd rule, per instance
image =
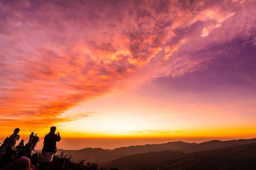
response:
[[[72,154],[74,159],[85,159],[86,161],[94,161],[97,163],[108,162],[111,160],[119,159],[129,155],[142,154],[147,152],[159,152],[164,150],[172,150],[182,153],[198,152],[202,150],[213,150],[219,148],[225,148],[229,146],[237,146],[242,144],[256,143],[254,139],[239,139],[229,141],[207,141],[200,144],[186,143],[182,141],[168,142],[166,144],[147,144],[143,146],[129,146],[116,148],[113,150],[101,149],[101,148],[84,148],[81,150],[62,150],[59,149],[57,153],[65,151]]]

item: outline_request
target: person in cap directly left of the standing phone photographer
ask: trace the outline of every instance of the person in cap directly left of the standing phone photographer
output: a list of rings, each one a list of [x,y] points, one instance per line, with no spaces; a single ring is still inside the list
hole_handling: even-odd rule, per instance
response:
[[[33,137],[33,139],[25,145],[22,154],[23,157],[28,157],[30,163],[36,167],[38,167],[38,155],[36,155],[35,146],[38,141],[40,141],[39,137]]]

